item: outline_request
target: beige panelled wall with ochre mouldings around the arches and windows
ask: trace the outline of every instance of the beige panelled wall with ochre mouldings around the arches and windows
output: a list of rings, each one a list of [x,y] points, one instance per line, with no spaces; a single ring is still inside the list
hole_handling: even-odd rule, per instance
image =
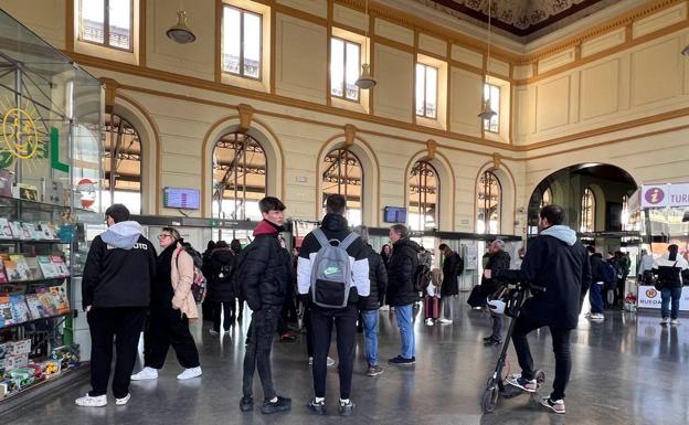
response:
[[[570,164],[613,163],[639,183],[689,179],[683,167],[689,149],[682,145],[689,131],[683,128],[689,81],[678,54],[689,42],[686,2],[665,1],[669,6],[655,14],[639,12],[622,26],[583,36],[574,47],[559,49],[556,41],[523,54],[497,49],[491,73],[505,79],[508,91],[511,85],[506,108],[512,119],[496,140],[485,138],[476,117],[484,42],[431,23],[431,12],[415,22],[382,7],[373,13],[368,28],[379,85],[368,107],[353,110],[330,102],[327,59],[331,28],[360,34],[367,29],[363,14],[350,7],[354,1],[336,0],[328,10],[332,3],[325,0],[266,0],[273,4],[267,31],[274,49],[264,87],[223,84],[216,61],[220,2],[184,3],[198,40],[179,45],[165,36],[176,6],[141,0],[144,36],[135,65],[72,53],[72,3],[35,0],[29,7],[0,0],[0,7],[95,76],[119,84],[116,110],[142,138],[145,213],[177,215],[162,209],[160,191],[181,185],[202,190],[204,210],[197,215],[210,215],[212,146],[239,127],[240,104],[255,109],[250,131],[268,155],[268,192],[283,196],[294,217],[319,215],[317,164],[342,144],[346,125],[357,128],[353,149],[364,167],[369,225],[383,225],[383,206],[405,204],[406,172],[428,155],[428,139],[437,142],[432,162],[443,180],[439,227],[447,231],[474,231],[476,180],[487,169],[495,169],[505,191],[504,233],[523,232],[526,214],[519,211],[536,184]],[[438,128],[414,124],[417,54],[447,64],[446,123]]]

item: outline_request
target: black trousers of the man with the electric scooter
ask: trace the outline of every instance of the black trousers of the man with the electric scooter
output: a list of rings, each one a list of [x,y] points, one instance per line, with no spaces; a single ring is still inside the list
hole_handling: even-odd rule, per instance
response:
[[[533,369],[533,358],[529,349],[527,334],[536,329],[547,325],[531,320],[524,316],[519,316],[515,323],[515,332],[512,333],[512,342],[517,359],[521,368],[521,375],[528,380],[534,379],[536,371]],[[570,373],[572,372],[572,354],[570,352],[570,334],[571,329],[550,328],[552,336],[553,352],[555,354],[555,379],[553,381],[553,392],[550,394],[551,400],[563,400],[564,389],[570,382]]]

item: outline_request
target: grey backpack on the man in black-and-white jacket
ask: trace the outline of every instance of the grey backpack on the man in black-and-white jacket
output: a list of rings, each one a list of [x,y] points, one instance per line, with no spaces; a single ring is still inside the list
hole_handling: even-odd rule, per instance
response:
[[[330,240],[316,229],[314,236],[320,244],[311,268],[311,299],[320,307],[347,307],[349,290],[353,285],[351,264],[347,248],[359,235],[350,233],[342,242]]]

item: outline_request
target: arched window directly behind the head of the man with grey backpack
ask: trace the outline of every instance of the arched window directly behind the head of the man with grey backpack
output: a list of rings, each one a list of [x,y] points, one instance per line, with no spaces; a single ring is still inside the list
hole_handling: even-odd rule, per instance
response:
[[[322,205],[326,198],[341,194],[347,199],[347,221],[350,225],[362,224],[363,169],[361,161],[349,149],[333,149],[321,163]]]

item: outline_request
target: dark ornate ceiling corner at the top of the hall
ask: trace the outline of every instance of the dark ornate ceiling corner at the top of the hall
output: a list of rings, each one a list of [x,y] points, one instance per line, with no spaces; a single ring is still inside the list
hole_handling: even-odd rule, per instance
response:
[[[475,24],[488,22],[488,0],[414,1]],[[492,0],[491,25],[497,32],[526,43],[617,2],[618,0]]]

